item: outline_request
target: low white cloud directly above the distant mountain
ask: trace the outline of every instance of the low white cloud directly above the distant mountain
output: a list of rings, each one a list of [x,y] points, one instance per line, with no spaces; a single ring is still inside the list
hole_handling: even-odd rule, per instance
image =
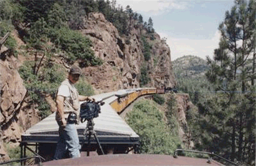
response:
[[[170,56],[172,60],[176,60],[184,55],[195,55],[200,58],[206,59],[214,55],[214,49],[219,46],[219,39],[221,34],[219,31],[210,40],[192,40],[188,38],[172,38],[165,33],[158,33],[160,37],[167,38],[167,44],[170,47]]]

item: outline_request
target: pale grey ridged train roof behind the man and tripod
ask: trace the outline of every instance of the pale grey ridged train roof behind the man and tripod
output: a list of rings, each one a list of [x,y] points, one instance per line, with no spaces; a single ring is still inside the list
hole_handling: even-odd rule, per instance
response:
[[[105,104],[101,107],[101,113],[94,118],[94,130],[101,144],[138,144],[139,136],[131,127],[114,111],[110,106],[116,95],[125,95],[134,90],[119,90],[105,94],[93,95],[98,100],[104,100]],[[84,138],[84,130],[87,121],[77,125],[78,137],[80,142]],[[36,143],[57,143],[59,138],[59,126],[55,120],[55,113],[41,120],[41,122],[26,130],[22,135],[22,142]],[[91,140],[92,143],[94,140]]]

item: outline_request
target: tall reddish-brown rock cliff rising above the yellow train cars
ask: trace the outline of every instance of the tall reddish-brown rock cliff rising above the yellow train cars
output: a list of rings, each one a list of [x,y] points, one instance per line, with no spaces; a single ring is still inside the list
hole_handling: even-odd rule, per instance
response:
[[[93,42],[95,56],[104,60],[102,66],[84,69],[86,78],[96,90],[110,92],[140,87],[140,67],[144,61],[141,37],[145,31],[133,26],[129,37],[121,37],[102,13],[90,13],[81,31]],[[172,74],[170,49],[159,35],[154,35],[152,58],[147,62],[151,82],[147,86],[163,87],[166,84],[174,87],[176,82]]]

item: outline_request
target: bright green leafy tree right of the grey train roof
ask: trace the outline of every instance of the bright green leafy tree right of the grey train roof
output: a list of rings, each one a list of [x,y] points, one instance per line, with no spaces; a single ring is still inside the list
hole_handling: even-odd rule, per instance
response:
[[[127,123],[140,135],[141,152],[171,154],[181,145],[163,120],[163,113],[151,101],[140,101],[127,115]]]

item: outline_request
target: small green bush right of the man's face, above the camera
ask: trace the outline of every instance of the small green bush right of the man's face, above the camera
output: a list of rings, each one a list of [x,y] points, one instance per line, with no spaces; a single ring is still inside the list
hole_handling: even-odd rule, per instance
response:
[[[89,85],[83,77],[79,79],[75,84],[75,87],[77,88],[79,95],[91,96],[95,94],[93,87]]]

